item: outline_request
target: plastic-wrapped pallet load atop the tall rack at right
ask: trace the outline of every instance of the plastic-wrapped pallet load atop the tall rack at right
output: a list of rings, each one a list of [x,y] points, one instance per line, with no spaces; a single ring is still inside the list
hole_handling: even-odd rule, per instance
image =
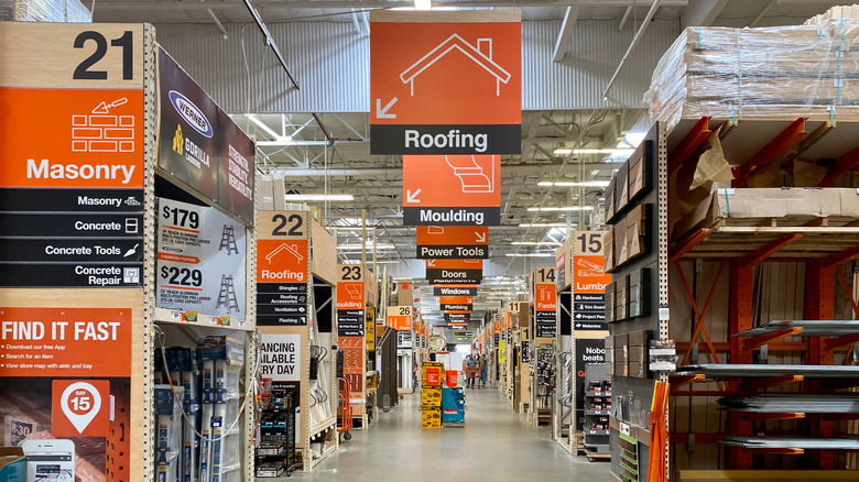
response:
[[[668,128],[703,116],[859,119],[859,21],[688,28],[660,59],[644,100]]]

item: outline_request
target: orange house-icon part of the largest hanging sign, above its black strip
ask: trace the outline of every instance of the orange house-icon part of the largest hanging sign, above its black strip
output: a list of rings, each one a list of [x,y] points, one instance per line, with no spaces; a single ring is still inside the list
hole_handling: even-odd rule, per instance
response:
[[[519,22],[431,23],[417,20],[421,12],[409,15],[416,21],[371,24],[373,123],[520,123]]]

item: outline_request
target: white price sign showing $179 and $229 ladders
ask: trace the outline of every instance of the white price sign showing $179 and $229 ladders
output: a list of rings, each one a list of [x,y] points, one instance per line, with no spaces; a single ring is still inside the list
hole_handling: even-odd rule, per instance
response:
[[[243,320],[244,226],[215,208],[157,199],[159,308]]]

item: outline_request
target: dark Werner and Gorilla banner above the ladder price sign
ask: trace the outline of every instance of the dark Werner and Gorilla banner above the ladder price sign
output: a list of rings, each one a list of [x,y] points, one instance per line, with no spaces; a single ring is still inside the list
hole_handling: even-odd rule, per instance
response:
[[[253,222],[253,143],[164,50],[159,72],[159,166]]]

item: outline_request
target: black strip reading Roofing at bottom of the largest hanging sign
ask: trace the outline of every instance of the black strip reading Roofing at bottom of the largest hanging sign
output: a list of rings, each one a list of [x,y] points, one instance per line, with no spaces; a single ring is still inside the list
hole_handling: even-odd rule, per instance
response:
[[[407,132],[406,132],[407,131]],[[370,154],[519,154],[522,150],[519,124],[374,124],[370,125]],[[452,132],[460,138],[486,139],[483,142],[441,144],[426,140],[447,139]]]

